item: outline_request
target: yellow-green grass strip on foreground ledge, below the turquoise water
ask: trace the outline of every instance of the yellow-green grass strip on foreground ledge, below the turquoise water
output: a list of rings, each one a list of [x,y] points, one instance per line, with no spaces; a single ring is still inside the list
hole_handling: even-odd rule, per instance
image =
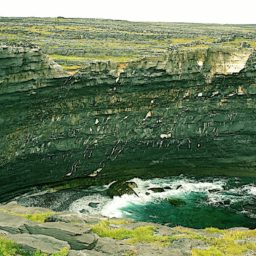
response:
[[[114,225],[113,225],[114,224]],[[127,243],[155,244],[167,246],[175,240],[190,239],[205,243],[206,248],[193,248],[193,256],[240,256],[245,253],[256,253],[256,230],[220,230],[206,228],[202,231],[176,227],[170,236],[161,236],[155,233],[155,227],[151,225],[139,226],[133,229],[122,227],[127,224],[121,220],[103,220],[92,226],[94,233],[100,237],[109,237],[117,240],[125,240]],[[254,240],[255,241],[255,240]],[[253,254],[252,254],[253,255]]]

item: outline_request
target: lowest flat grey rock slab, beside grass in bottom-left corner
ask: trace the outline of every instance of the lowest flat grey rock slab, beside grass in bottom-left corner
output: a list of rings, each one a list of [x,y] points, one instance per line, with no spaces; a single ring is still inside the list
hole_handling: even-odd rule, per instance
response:
[[[40,250],[44,253],[54,253],[70,246],[65,241],[60,241],[54,237],[45,235],[31,235],[31,234],[9,234],[7,238],[11,239],[21,247],[27,250]]]

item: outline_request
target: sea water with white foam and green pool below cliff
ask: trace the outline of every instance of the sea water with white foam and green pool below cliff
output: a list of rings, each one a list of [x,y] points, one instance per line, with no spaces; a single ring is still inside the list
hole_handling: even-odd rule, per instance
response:
[[[58,192],[52,205],[49,205],[49,200],[46,200],[48,205],[42,205],[43,195],[26,195],[19,201],[29,206],[131,218],[168,226],[256,228],[256,185],[252,178],[181,175],[149,180],[134,178],[131,181],[137,184],[132,195],[109,198],[106,191],[110,184],[107,184]]]

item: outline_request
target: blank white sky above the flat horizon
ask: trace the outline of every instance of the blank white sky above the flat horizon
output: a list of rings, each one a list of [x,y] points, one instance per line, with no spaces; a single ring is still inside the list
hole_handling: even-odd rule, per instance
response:
[[[256,24],[256,0],[2,0],[0,16]]]

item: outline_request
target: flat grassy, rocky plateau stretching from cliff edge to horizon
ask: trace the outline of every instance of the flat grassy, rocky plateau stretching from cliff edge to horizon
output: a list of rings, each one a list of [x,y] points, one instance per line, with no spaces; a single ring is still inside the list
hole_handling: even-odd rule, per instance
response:
[[[255,25],[0,18],[0,42],[38,45],[71,74],[92,61],[130,62],[176,47],[256,48]]]

